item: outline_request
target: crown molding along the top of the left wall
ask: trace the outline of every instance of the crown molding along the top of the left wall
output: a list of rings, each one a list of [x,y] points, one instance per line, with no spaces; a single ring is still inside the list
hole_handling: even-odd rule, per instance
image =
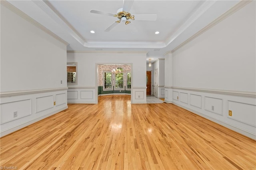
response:
[[[59,36],[57,36],[56,34],[51,32],[50,30],[48,30],[42,24],[40,24],[39,22],[37,22],[36,20],[31,18],[30,16],[28,16],[27,14],[25,14],[24,12],[22,12],[21,10],[19,10],[18,8],[16,8],[12,4],[10,4],[9,2],[7,2],[6,0],[0,0],[0,3],[1,3],[1,5],[4,5],[6,8],[11,10],[15,14],[19,15],[20,17],[22,17],[26,21],[30,22],[31,24],[33,24],[34,26],[39,28],[40,30],[44,31],[46,34],[49,34],[50,36],[52,36],[53,38],[55,38],[59,42],[64,43],[64,45],[68,45],[69,44],[68,42],[64,41],[62,38],[60,38]]]

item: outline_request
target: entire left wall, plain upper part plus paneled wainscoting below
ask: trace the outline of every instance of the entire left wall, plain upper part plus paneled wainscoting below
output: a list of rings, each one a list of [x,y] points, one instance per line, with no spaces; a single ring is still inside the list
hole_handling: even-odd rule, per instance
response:
[[[67,108],[66,44],[9,7],[1,2],[1,136]]]

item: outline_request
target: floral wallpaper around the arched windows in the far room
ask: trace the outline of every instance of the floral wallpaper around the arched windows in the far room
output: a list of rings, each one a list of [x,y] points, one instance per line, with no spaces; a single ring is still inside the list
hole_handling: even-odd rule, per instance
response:
[[[98,65],[98,86],[103,86],[104,71],[112,71],[118,67],[124,69],[124,73],[131,71],[131,65]],[[126,80],[126,74],[124,74],[124,80]],[[126,81],[124,85],[126,86]]]

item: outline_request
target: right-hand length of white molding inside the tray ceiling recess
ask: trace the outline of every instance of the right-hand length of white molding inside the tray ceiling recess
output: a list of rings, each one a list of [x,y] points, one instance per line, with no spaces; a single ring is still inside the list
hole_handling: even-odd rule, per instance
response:
[[[166,41],[166,45],[169,45],[171,42],[173,42],[180,34],[182,34],[182,32],[184,32],[191,24],[193,24],[200,16],[202,16],[202,14],[204,14],[204,12],[206,12],[206,10],[208,10],[216,1],[213,0],[207,0],[205,1],[199,8],[198,10],[196,10],[191,16],[190,18],[188,18],[188,20],[186,20],[184,22],[184,24],[182,24],[182,26],[180,26],[180,28],[178,29],[178,31],[176,31],[167,41]]]

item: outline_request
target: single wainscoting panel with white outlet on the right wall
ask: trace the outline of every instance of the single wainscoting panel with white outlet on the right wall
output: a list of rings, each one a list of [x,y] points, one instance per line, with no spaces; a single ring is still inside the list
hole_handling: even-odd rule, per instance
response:
[[[213,97],[204,97],[204,109],[212,113],[222,115],[223,101]]]

